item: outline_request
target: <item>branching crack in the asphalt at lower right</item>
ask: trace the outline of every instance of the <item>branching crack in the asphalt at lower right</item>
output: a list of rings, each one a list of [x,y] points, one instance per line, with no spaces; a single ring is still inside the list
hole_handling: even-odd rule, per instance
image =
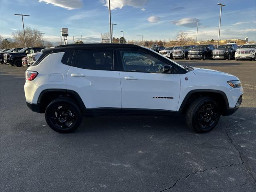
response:
[[[164,192],[164,191],[167,191],[167,190],[169,190],[169,189],[174,188],[174,186],[176,186],[176,184],[177,184],[180,180],[187,179],[187,178],[188,178],[189,176],[191,176],[191,175],[195,175],[195,174],[197,174],[197,173],[202,173],[202,172],[205,172],[205,171],[207,171],[207,170],[213,170],[213,169],[217,169],[217,168],[230,167],[230,166],[242,165],[242,164],[245,165],[246,170],[249,172],[250,176],[251,176],[252,179],[254,180],[254,183],[256,183],[256,179],[254,178],[254,176],[253,176],[253,174],[252,174],[250,168],[247,166],[246,163],[244,163],[244,157],[243,157],[242,152],[240,152],[239,148],[234,144],[234,142],[233,142],[232,138],[230,137],[230,135],[228,134],[228,130],[227,130],[228,127],[230,127],[230,126],[232,126],[232,125],[234,125],[234,124],[237,124],[237,123],[240,123],[240,122],[244,122],[244,121],[249,121],[249,120],[256,120],[256,119],[255,119],[255,118],[252,118],[252,119],[245,119],[245,120],[242,120],[242,121],[239,121],[239,122],[235,122],[235,123],[233,123],[233,124],[230,124],[230,125],[224,127],[224,133],[225,133],[226,136],[228,137],[228,140],[230,141],[230,143],[231,143],[231,144],[234,146],[234,148],[238,151],[239,157],[240,157],[240,160],[241,160],[241,163],[238,163],[238,164],[230,164],[230,165],[224,165],[224,166],[217,166],[217,167],[212,167],[212,168],[206,168],[206,169],[201,170],[201,171],[196,171],[196,172],[190,173],[190,174],[188,174],[188,175],[185,176],[185,177],[180,177],[180,178],[178,178],[178,179],[176,180],[176,182],[175,182],[172,186],[170,186],[169,188],[165,188],[164,190],[160,190],[160,192]],[[244,184],[242,184],[242,185],[245,185],[246,183],[247,183],[247,180],[246,180],[246,182],[245,182]]]

